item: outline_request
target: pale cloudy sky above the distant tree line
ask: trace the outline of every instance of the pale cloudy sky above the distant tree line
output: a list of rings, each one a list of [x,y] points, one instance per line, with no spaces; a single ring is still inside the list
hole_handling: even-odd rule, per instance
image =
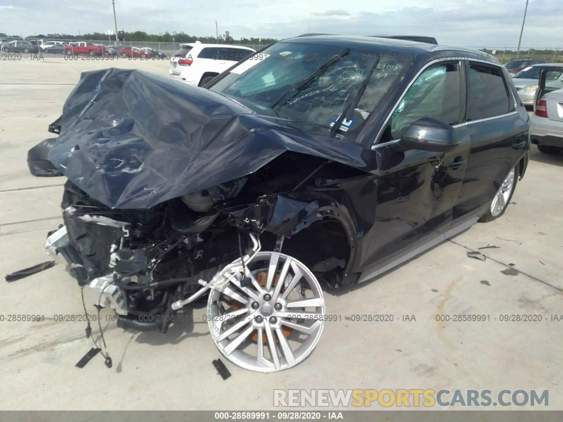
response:
[[[306,32],[432,35],[444,44],[515,47],[525,0],[115,0],[119,30],[234,38]],[[563,0],[530,0],[522,47],[563,48]],[[0,32],[113,29],[111,0],[0,0]]]

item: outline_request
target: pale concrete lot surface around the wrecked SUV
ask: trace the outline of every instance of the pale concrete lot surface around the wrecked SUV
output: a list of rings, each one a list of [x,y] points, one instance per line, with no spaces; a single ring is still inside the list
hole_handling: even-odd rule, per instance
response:
[[[28,149],[52,137],[47,126],[61,114],[82,71],[112,66],[168,77],[169,62],[0,62],[2,279],[47,261],[47,231],[62,222],[64,178],[31,176]],[[327,294],[327,313],[341,317],[325,324],[309,359],[277,374],[245,371],[222,358],[204,309],[166,335],[124,331],[102,311],[113,367],[97,356],[78,369],[74,365],[92,342],[84,337],[84,322],[54,319],[83,313],[81,291],[64,267],[2,280],[0,409],[250,410],[272,408],[274,388],[444,388],[549,390],[549,409],[563,410],[563,317],[553,320],[563,315],[562,181],[563,155],[542,155],[533,147],[528,172],[502,218],[477,224],[359,289]],[[480,250],[486,261],[467,257],[484,246],[498,248]],[[93,300],[86,303],[94,312]],[[364,314],[393,315],[394,321],[352,321],[351,315]],[[489,318],[436,320],[459,314]],[[9,315],[41,315],[44,321],[8,321]],[[501,321],[504,315],[540,315],[541,321]],[[97,324],[92,328],[97,337]],[[226,381],[211,363],[217,358],[232,373]]]

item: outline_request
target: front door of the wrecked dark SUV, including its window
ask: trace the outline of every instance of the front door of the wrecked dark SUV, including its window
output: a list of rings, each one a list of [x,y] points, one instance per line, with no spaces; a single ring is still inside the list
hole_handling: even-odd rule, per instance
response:
[[[443,234],[466,170],[469,138],[464,114],[463,61],[427,64],[387,119],[377,150],[377,197],[369,246],[361,251],[363,277]],[[452,125],[460,141],[450,152],[400,151],[395,143],[414,122],[435,118]]]

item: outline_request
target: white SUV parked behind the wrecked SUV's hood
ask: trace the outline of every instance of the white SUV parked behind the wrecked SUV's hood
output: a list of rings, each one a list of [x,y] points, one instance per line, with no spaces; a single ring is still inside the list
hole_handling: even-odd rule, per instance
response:
[[[231,44],[180,44],[180,50],[170,60],[169,73],[184,83],[203,86],[254,52],[252,48]]]

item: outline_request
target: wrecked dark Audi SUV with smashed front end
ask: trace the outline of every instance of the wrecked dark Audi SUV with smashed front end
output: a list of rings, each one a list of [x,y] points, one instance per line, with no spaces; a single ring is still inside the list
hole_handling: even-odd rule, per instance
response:
[[[494,57],[339,35],[285,39],[204,87],[89,71],[52,128],[68,181],[48,252],[120,327],[166,333],[207,299],[217,348],[260,372],[311,354],[323,290],[502,216],[530,149]]]

